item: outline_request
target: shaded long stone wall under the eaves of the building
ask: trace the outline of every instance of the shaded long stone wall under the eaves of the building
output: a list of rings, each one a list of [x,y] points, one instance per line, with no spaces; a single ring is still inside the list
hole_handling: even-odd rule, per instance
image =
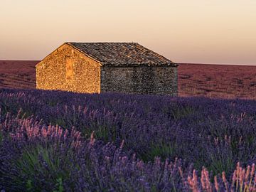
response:
[[[178,95],[177,68],[171,66],[103,66],[101,92]]]

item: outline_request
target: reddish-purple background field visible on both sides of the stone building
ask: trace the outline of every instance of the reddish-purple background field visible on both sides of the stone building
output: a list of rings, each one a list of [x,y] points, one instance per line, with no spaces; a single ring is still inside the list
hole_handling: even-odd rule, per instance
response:
[[[0,60],[0,88],[35,88],[38,60]],[[178,96],[256,98],[256,66],[180,64]]]

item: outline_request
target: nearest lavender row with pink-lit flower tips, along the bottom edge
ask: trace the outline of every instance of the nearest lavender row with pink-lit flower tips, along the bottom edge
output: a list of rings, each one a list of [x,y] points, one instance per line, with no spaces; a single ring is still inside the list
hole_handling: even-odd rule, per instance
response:
[[[210,181],[182,161],[144,163],[113,144],[35,119],[0,116],[1,191],[255,191],[255,164]],[[200,175],[200,177],[199,177]]]

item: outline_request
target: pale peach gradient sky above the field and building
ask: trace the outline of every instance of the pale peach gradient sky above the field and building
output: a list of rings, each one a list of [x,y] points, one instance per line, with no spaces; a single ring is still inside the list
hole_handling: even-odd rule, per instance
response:
[[[0,0],[0,59],[138,42],[174,62],[256,64],[256,0]]]

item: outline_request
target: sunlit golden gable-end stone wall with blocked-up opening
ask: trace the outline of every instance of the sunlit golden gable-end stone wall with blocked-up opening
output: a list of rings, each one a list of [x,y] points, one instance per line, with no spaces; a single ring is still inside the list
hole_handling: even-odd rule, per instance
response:
[[[36,66],[36,88],[100,92],[100,64],[64,44]]]

